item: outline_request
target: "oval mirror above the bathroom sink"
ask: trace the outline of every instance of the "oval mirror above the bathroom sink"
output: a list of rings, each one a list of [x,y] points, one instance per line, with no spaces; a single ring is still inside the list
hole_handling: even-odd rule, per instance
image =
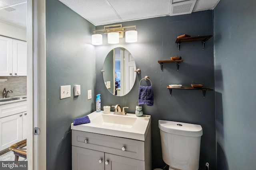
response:
[[[128,50],[112,49],[106,56],[103,70],[103,80],[110,93],[124,96],[130,92],[136,79],[136,65]]]

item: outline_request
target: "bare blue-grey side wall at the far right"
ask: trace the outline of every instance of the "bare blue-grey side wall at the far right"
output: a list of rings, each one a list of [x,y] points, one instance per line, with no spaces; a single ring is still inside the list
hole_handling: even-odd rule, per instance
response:
[[[255,6],[221,0],[214,9],[218,170],[256,169]]]

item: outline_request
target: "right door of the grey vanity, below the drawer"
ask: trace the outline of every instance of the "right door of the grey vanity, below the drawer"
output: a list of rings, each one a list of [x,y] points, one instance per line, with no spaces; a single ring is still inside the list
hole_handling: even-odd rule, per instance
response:
[[[105,170],[145,170],[145,162],[142,160],[127,158],[105,153]]]

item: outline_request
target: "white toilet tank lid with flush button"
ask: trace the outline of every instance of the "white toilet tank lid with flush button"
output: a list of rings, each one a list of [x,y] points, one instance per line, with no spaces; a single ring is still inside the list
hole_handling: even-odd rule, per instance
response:
[[[176,121],[158,120],[160,130],[176,135],[200,137],[203,135],[201,125],[182,123]]]

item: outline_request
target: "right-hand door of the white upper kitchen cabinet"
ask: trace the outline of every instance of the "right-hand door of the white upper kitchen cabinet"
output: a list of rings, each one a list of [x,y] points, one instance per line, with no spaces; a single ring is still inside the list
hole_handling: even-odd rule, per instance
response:
[[[27,43],[13,39],[13,76],[27,75]]]

